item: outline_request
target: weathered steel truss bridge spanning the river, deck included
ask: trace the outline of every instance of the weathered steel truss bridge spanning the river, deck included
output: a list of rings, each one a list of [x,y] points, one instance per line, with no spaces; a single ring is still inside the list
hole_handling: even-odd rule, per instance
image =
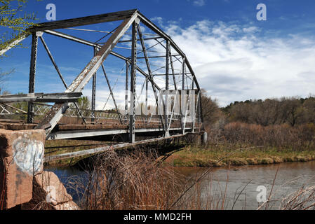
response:
[[[100,25],[99,27],[105,24],[117,24],[117,27],[109,31],[86,28],[86,26],[96,24]],[[29,93],[0,96],[0,128],[43,129],[46,130],[46,139],[75,139],[123,134],[128,143],[118,144],[114,148],[181,137],[187,133],[203,133],[201,88],[189,60],[172,38],[145,18],[139,10],[45,22],[27,31],[27,34],[16,38],[8,48],[0,50],[0,55],[3,55],[25,38],[29,36],[32,38]],[[75,32],[85,33],[85,37],[88,38],[90,36],[92,38],[93,34],[102,35],[102,38],[91,41],[76,36]],[[49,48],[45,41],[46,36],[85,45],[94,52],[94,55],[91,55],[91,61],[70,85],[62,76],[62,67],[58,66],[58,60],[53,57],[53,50],[60,47],[57,45]],[[34,92],[35,75],[44,75],[36,74],[39,41],[53,64],[65,92],[46,94]],[[123,83],[123,88],[121,88],[123,91],[114,90],[115,77],[111,77],[105,71],[105,66],[114,66],[112,61],[107,62],[109,56],[123,63],[123,75],[117,78],[120,83]],[[105,110],[105,106],[102,110],[95,109],[97,74],[105,78],[106,87],[109,90],[107,101],[111,99],[114,105],[114,109],[110,111]],[[91,108],[82,109],[78,105],[78,99],[90,80],[92,80]],[[144,106],[145,110],[151,106],[161,105],[159,94],[165,90],[177,91],[181,108],[182,105],[187,105],[187,107],[175,113],[174,104],[166,103],[171,97],[164,94],[162,97],[163,114],[140,113],[138,115],[135,113],[139,105]],[[194,97],[189,97],[189,94],[187,98],[182,97],[188,92],[193,92]],[[117,94],[123,94],[122,108],[119,107]],[[142,103],[139,101],[140,97],[143,99]],[[19,106],[21,104],[27,106],[22,108]],[[190,119],[187,119],[188,117]],[[146,140],[137,138],[136,141],[135,136],[140,137],[148,133],[154,133],[155,137]],[[106,147],[97,148],[75,155],[59,156],[59,158],[92,154],[106,149]]]

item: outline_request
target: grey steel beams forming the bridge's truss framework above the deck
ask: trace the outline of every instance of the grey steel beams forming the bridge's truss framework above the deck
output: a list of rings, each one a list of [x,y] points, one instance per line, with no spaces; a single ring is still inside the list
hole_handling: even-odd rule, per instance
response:
[[[69,34],[65,34],[60,31],[56,31],[55,29],[74,29],[73,27],[79,27],[83,25],[93,25],[98,23],[105,22],[114,22],[121,20],[121,24],[119,27],[116,27],[113,31],[107,32],[109,38],[105,43],[95,43],[93,41],[87,41],[83,38],[78,38],[76,36],[72,36]],[[150,31],[153,31],[154,35],[149,38],[145,38],[142,33],[142,28],[149,28]],[[128,29],[131,28],[131,36],[129,39],[121,40],[121,38],[126,34]],[[77,29],[80,30],[80,29]],[[83,29],[81,29],[83,31]],[[1,115],[6,114],[14,114],[14,113],[22,113],[27,114],[27,123],[34,123],[34,116],[41,115],[43,119],[41,122],[34,125],[35,129],[44,129],[46,130],[47,139],[70,139],[76,137],[88,137],[95,135],[106,135],[106,134],[119,134],[126,133],[128,134],[128,139],[131,144],[135,143],[135,133],[136,132],[163,132],[163,137],[170,137],[170,131],[177,131],[176,134],[185,134],[186,132],[203,132],[203,115],[202,115],[202,105],[201,105],[201,88],[199,86],[198,80],[196,79],[195,73],[192,69],[192,66],[189,64],[189,60],[186,55],[180,48],[176,45],[176,43],[165,34],[159,27],[154,25],[153,22],[145,18],[139,10],[126,10],[116,13],[107,13],[102,15],[93,15],[83,18],[75,18],[69,20],[59,20],[55,22],[45,22],[38,24],[30,29],[28,29],[29,34],[25,36],[20,36],[17,38],[8,48],[0,50],[0,55],[9,50],[23,39],[27,38],[27,36],[32,36],[32,50],[31,50],[31,59],[30,59],[30,70],[29,70],[29,94],[24,96],[25,98],[20,101],[27,101],[28,108],[27,111],[23,111],[22,109],[15,108],[14,106],[8,104],[12,102],[13,96],[4,96],[2,99],[0,98],[0,111]],[[86,31],[89,31],[86,29]],[[65,79],[60,72],[60,69],[55,62],[55,59],[46,44],[43,34],[49,34],[53,36],[58,36],[59,38],[65,38],[68,41],[74,41],[76,43],[81,43],[83,45],[88,45],[94,49],[94,56],[91,61],[88,62],[86,67],[79,73],[78,76],[73,80],[71,85],[67,85]],[[106,36],[107,36],[106,35]],[[39,40],[43,44],[46,52],[48,53],[49,59],[53,63],[55,70],[57,71],[62,83],[65,87],[65,95],[62,94],[64,99],[56,100],[51,99],[51,102],[55,102],[54,105],[50,104],[42,104],[43,102],[49,102],[47,99],[43,101],[41,97],[34,97],[36,95],[34,93],[35,89],[35,75],[36,75],[36,62],[37,62],[37,49]],[[146,41],[155,41],[155,45],[159,45],[164,50],[163,55],[152,55],[150,52],[150,48],[147,47]],[[115,52],[114,48],[116,48],[117,43],[130,43],[130,56],[126,57],[119,52]],[[140,47],[141,48],[140,48]],[[140,50],[141,49],[141,50]],[[126,99],[125,99],[125,112],[129,113],[121,113],[121,110],[118,108],[116,103],[116,99],[114,97],[114,90],[109,81],[107,73],[105,71],[105,66],[103,62],[107,59],[108,55],[113,55],[126,63]],[[142,56],[142,57],[141,57]],[[161,58],[165,59],[165,64],[161,66],[161,69],[165,69],[165,73],[156,73],[156,70],[161,71],[161,69],[156,69],[152,71],[152,64],[150,62],[151,59]],[[139,59],[145,60],[145,69],[138,64]],[[176,72],[174,68],[175,63],[180,63],[182,67],[182,71]],[[98,69],[102,69],[102,73],[107,81],[107,85],[109,87],[110,96],[114,102],[114,106],[116,108],[116,112],[109,113],[107,111],[96,111],[95,110],[95,92],[96,92],[96,73]],[[194,91],[196,92],[196,112],[191,114],[193,116],[192,124],[188,127],[186,124],[187,114],[182,113],[170,113],[170,109],[168,108],[167,102],[168,95],[166,94],[164,99],[164,115],[160,116],[145,116],[145,118],[141,118],[143,116],[137,116],[135,114],[136,107],[136,83],[137,83],[137,74],[141,74],[145,76],[145,83],[142,88],[145,86],[146,94],[149,87],[149,84],[152,87],[152,91],[154,93],[154,100],[156,105],[159,104],[159,91],[161,90],[185,90],[185,91]],[[161,84],[156,83],[156,78],[163,77],[163,86]],[[177,77],[182,78],[179,82],[177,82]],[[79,93],[83,90],[83,87],[89,82],[89,80],[93,79],[93,89],[92,89],[92,106],[91,110],[82,110],[79,109],[79,106],[69,100],[69,96],[67,94],[75,94]],[[188,80],[190,85],[188,84]],[[130,87],[130,94],[128,94],[128,87]],[[76,96],[77,97],[77,96]],[[128,101],[128,97],[130,100]],[[10,98],[10,99],[8,99]],[[27,98],[27,99],[26,99]],[[36,99],[35,99],[36,98]],[[183,98],[183,97],[182,97]],[[192,100],[192,99],[191,99]],[[194,99],[195,100],[195,99]],[[39,106],[42,105],[42,106]],[[43,106],[44,105],[44,106]],[[145,99],[145,108],[148,108],[147,104],[147,95]],[[126,115],[127,114],[127,115]],[[126,130],[67,130],[67,131],[55,131],[56,125],[60,122],[60,119],[63,116],[74,116],[81,117],[83,123],[87,123],[86,119],[91,118],[91,121],[97,123],[99,119],[114,119],[117,120],[121,125],[127,125]],[[144,119],[144,120],[143,120]],[[160,127],[154,128],[136,128],[136,123],[138,120],[142,120],[143,124],[150,123],[159,123]],[[172,127],[171,123],[177,121],[180,124],[180,127]],[[196,123],[198,125],[196,125]]]

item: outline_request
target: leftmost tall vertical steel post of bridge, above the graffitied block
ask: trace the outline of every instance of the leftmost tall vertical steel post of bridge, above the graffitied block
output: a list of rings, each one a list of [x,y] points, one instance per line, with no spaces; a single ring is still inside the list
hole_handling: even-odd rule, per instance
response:
[[[32,34],[32,50],[31,50],[31,64],[29,68],[29,93],[34,93],[35,89],[35,74],[36,74],[36,61],[37,61],[37,45],[39,38],[37,33]],[[27,123],[34,122],[34,104],[28,103],[27,109]]]

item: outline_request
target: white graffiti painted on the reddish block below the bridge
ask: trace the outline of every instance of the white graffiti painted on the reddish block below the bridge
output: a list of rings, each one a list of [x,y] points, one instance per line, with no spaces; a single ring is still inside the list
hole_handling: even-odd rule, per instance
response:
[[[43,164],[44,146],[41,141],[19,137],[13,142],[15,164],[29,175],[41,172]]]

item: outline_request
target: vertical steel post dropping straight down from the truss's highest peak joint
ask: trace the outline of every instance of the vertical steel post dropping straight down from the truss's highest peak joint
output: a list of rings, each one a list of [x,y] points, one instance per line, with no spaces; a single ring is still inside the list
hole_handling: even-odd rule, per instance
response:
[[[137,72],[137,26],[140,21],[135,19],[133,22],[133,36],[131,47],[131,74],[130,74],[130,115],[129,115],[129,141],[135,142],[135,76]]]

